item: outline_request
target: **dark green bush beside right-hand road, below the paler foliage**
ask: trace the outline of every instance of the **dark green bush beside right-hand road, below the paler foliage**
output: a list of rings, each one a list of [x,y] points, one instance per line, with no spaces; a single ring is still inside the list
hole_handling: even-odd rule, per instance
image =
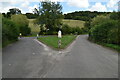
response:
[[[118,21],[114,20],[107,20],[99,25],[95,25],[90,30],[90,39],[93,41],[110,43],[113,42],[117,43],[117,27]],[[115,37],[116,36],[116,37]],[[114,38],[114,40],[112,39]]]

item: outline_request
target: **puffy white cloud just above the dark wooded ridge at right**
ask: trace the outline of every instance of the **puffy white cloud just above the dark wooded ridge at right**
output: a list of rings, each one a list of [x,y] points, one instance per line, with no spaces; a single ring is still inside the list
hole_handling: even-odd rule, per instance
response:
[[[91,8],[88,9],[89,11],[107,11],[107,8],[105,5],[102,5],[101,3],[95,3]]]

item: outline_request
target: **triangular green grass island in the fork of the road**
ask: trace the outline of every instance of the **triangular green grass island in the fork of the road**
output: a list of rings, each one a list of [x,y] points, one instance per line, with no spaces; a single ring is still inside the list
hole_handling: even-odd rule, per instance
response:
[[[76,36],[74,36],[74,35],[62,36],[62,38],[61,38],[62,45],[61,45],[60,49],[66,48],[73,40],[75,40],[75,38],[76,38]],[[57,36],[40,37],[38,40],[54,49],[59,49],[58,48],[59,38]]]

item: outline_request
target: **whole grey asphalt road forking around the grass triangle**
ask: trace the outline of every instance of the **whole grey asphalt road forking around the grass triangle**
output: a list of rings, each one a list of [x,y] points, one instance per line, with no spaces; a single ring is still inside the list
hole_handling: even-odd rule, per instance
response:
[[[34,38],[3,49],[4,78],[118,78],[118,53],[79,36],[64,51]]]

